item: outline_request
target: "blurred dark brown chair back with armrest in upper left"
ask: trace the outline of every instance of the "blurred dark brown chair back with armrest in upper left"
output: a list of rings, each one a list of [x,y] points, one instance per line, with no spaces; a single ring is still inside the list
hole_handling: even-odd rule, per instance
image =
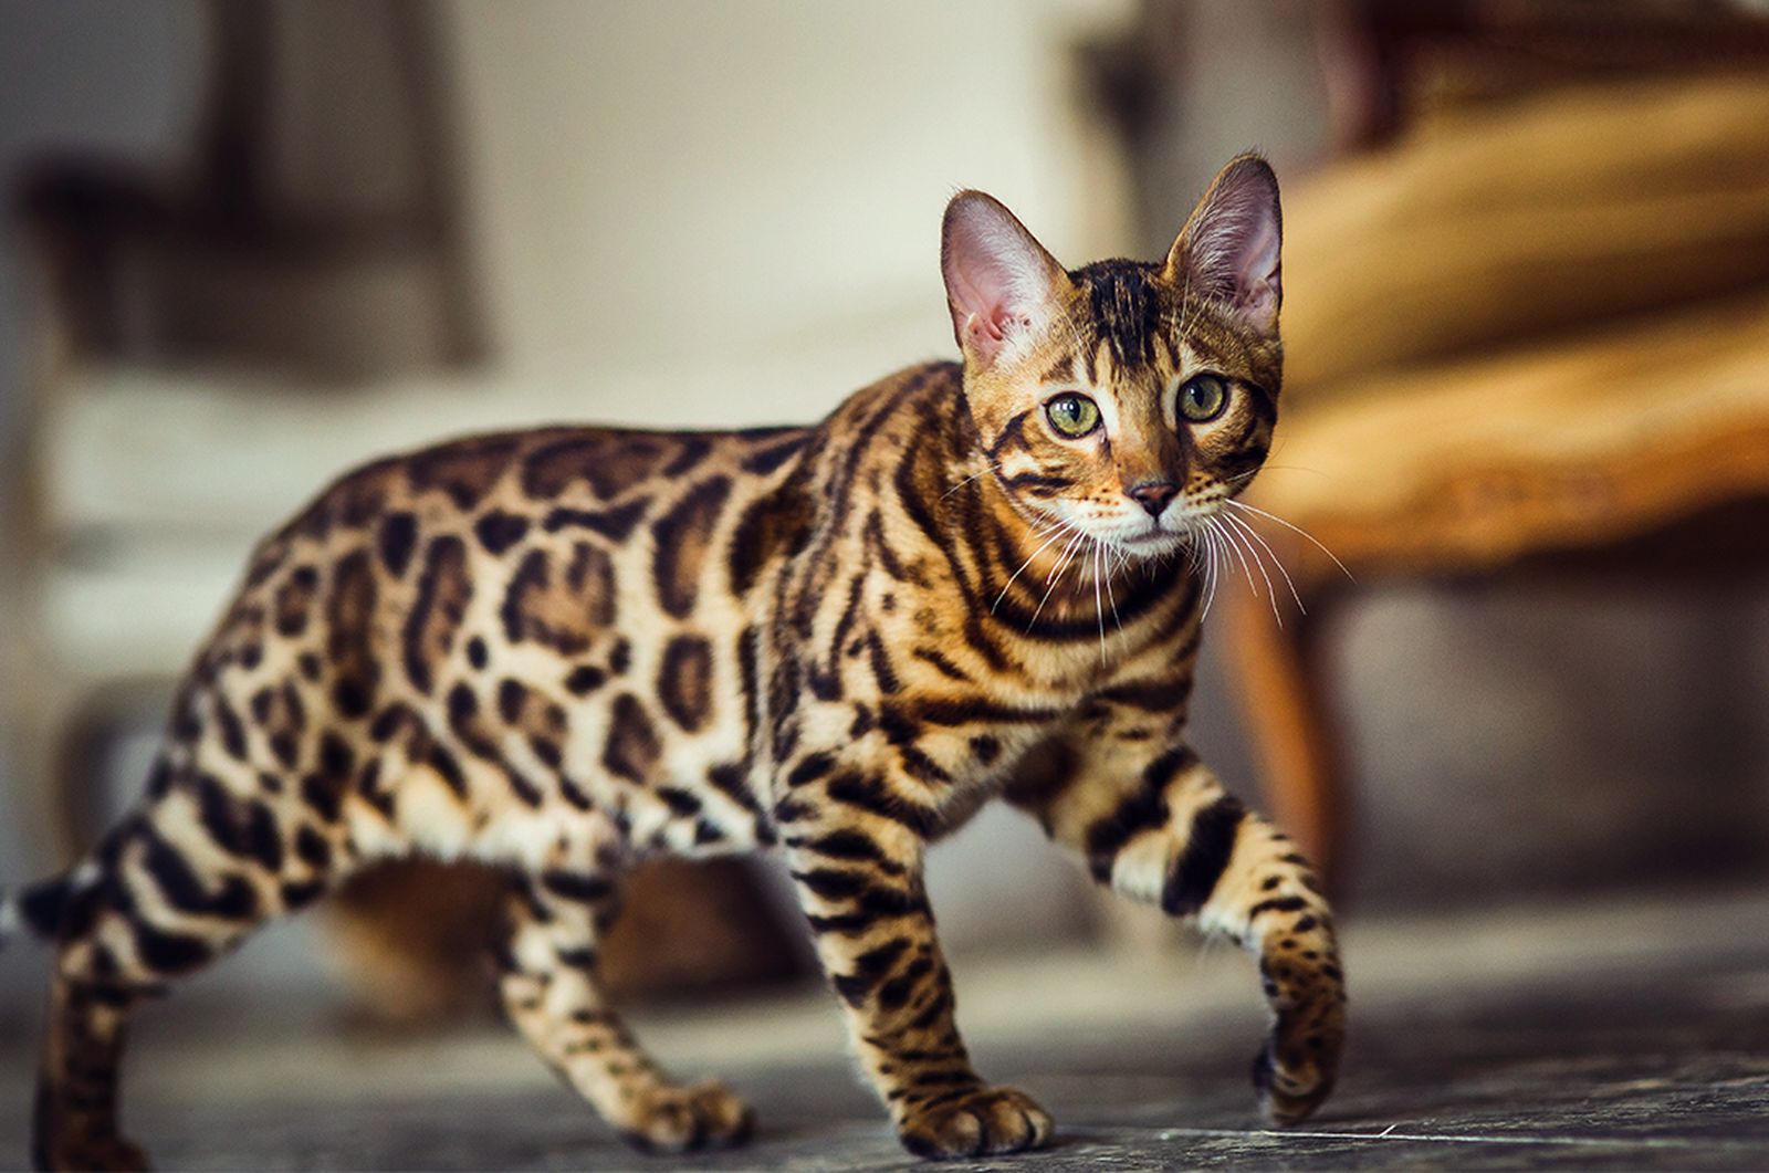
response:
[[[42,157],[19,207],[74,354],[357,379],[486,352],[423,0],[212,0],[188,166]]]

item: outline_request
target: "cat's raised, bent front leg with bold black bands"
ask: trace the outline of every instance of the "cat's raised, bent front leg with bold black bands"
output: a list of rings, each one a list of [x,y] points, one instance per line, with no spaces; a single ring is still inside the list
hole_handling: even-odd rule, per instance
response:
[[[1344,1046],[1344,973],[1332,913],[1295,844],[1222,789],[1185,745],[1162,752],[1099,731],[1010,787],[1093,878],[1260,959],[1272,1031],[1254,1060],[1267,1116],[1297,1123],[1332,1092]]]

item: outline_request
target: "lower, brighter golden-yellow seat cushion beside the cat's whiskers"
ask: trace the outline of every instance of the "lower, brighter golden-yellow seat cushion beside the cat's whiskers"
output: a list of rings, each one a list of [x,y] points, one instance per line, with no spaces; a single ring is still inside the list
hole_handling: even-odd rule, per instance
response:
[[[1769,497],[1769,290],[1373,379],[1283,419],[1247,501],[1382,573],[1489,568],[1750,495]]]

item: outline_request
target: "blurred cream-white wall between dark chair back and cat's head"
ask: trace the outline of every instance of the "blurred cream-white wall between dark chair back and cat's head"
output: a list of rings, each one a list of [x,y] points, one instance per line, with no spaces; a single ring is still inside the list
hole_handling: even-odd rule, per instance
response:
[[[586,414],[670,423],[679,405],[603,375],[814,354],[821,377],[693,402],[793,419],[948,352],[938,234],[959,188],[1072,264],[1123,248],[1068,48],[1127,7],[453,4],[497,345],[577,372]]]

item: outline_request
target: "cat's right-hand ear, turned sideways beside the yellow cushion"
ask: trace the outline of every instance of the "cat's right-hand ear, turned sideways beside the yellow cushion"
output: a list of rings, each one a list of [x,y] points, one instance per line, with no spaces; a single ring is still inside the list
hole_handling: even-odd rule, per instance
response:
[[[1168,280],[1229,303],[1247,326],[1270,336],[1284,303],[1283,244],[1277,175],[1260,156],[1244,154],[1217,172],[1185,221],[1168,253]]]

